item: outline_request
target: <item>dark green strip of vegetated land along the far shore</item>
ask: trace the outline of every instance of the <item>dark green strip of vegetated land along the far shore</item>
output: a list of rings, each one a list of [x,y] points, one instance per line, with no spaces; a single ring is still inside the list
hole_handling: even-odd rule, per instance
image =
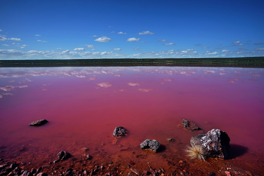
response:
[[[264,57],[232,58],[163,58],[163,59],[43,59],[0,60],[0,67],[67,67],[67,66],[203,66],[264,67]]]

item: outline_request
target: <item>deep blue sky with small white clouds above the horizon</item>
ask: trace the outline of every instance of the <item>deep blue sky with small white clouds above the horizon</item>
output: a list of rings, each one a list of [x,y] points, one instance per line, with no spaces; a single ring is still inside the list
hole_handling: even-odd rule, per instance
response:
[[[264,1],[1,1],[0,59],[264,56]]]

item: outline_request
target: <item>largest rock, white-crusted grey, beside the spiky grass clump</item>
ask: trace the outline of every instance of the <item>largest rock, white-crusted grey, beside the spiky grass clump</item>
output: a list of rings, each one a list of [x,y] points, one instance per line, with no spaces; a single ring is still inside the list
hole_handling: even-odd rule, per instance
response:
[[[205,150],[205,155],[212,158],[226,159],[229,155],[230,138],[226,132],[219,129],[212,129],[207,134],[192,136],[191,145],[200,145]]]

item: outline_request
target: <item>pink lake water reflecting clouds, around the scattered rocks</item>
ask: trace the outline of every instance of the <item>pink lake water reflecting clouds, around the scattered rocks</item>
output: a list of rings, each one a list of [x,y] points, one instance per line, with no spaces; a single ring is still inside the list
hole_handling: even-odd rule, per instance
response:
[[[263,88],[262,68],[0,68],[0,158],[37,165],[66,150],[77,159],[89,153],[122,167],[133,161],[143,169],[146,163],[165,168],[168,159],[188,159],[182,149],[193,135],[217,128],[231,139],[228,162],[259,174]],[[28,126],[39,119],[49,122]],[[179,128],[180,119],[203,131]],[[116,126],[128,135],[114,138]],[[146,138],[156,139],[162,151],[141,150]]]

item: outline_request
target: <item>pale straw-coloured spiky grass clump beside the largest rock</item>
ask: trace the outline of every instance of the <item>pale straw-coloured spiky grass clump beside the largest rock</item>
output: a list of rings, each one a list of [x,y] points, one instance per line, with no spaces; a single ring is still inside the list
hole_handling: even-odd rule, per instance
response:
[[[205,161],[205,150],[201,145],[186,146],[184,151],[187,153],[187,157],[190,159],[195,159],[199,161]]]

